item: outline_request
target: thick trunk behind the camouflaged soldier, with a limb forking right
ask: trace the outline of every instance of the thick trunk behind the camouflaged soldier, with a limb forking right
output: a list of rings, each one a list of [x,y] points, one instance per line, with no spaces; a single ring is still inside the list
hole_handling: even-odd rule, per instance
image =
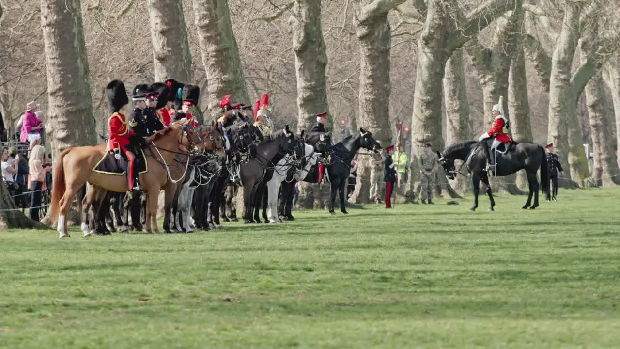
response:
[[[418,40],[417,78],[415,80],[412,138],[415,155],[422,143],[443,149],[441,138],[441,83],[448,58],[472,35],[487,27],[495,18],[515,7],[515,0],[490,1],[472,11],[459,29],[451,27],[451,9],[456,0],[429,1],[426,19]]]

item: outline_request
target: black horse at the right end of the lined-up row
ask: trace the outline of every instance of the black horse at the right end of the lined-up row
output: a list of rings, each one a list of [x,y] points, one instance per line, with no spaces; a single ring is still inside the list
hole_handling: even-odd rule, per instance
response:
[[[347,209],[345,209],[345,188],[351,171],[351,160],[353,160],[353,156],[357,154],[360,148],[379,152],[379,150],[381,150],[381,145],[373,138],[373,134],[360,127],[359,134],[350,135],[333,147],[331,154],[332,160],[327,166],[329,181],[332,184],[332,192],[329,199],[330,214],[335,214],[334,205],[336,193],[340,194],[340,212],[348,214]],[[314,171],[314,173],[309,174],[304,181],[317,183],[317,178],[318,171]]]

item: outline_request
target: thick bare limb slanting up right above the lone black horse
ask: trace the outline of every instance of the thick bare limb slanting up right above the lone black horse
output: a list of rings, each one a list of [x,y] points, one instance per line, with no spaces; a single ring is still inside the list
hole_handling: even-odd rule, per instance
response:
[[[448,52],[454,52],[462,47],[480,30],[489,26],[497,17],[505,12],[513,11],[516,8],[516,0],[489,0],[480,5],[469,16],[462,28],[455,30],[448,39]]]

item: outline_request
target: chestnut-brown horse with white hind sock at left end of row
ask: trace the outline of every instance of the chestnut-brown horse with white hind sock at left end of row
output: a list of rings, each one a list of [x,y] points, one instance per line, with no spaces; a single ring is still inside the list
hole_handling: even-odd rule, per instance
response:
[[[147,196],[146,209],[146,232],[158,232],[157,230],[157,194],[159,189],[166,184],[167,164],[172,161],[179,147],[203,148],[200,136],[188,127],[187,120],[181,120],[171,124],[166,129],[156,132],[147,138],[149,148],[156,156],[147,156],[148,172],[140,174],[140,182]],[[98,188],[124,193],[129,191],[127,178],[113,174],[103,174],[92,171],[97,163],[103,158],[106,145],[100,144],[95,147],[75,147],[63,150],[58,158],[54,170],[54,181],[51,192],[51,220],[58,222],[60,237],[68,237],[66,216],[71,209],[73,199],[78,190],[86,183],[93,184],[87,193],[89,204],[99,196]],[[152,229],[154,227],[154,230]]]

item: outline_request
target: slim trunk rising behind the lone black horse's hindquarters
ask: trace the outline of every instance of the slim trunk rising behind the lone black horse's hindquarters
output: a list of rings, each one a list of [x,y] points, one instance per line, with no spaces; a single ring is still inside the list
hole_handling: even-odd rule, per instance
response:
[[[519,46],[510,63],[508,75],[508,111],[510,111],[512,135],[516,142],[534,142],[529,120],[528,81],[525,75],[525,55]],[[525,170],[516,174],[516,185],[527,188]]]

